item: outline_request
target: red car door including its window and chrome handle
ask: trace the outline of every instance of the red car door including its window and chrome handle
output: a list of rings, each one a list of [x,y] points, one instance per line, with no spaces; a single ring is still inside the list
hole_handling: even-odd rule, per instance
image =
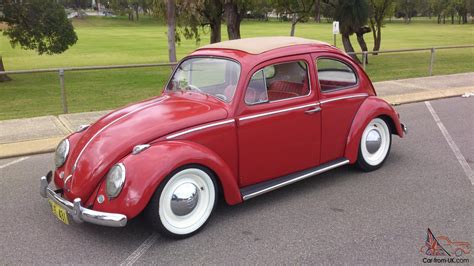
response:
[[[321,114],[309,55],[261,64],[238,115],[242,187],[318,165]]]

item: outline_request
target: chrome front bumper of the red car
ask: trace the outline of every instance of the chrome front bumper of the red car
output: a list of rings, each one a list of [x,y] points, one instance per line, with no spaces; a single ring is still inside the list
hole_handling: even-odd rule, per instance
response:
[[[127,224],[127,216],[118,213],[99,212],[82,207],[81,199],[70,202],[61,197],[56,191],[49,188],[52,173],[40,179],[40,194],[44,198],[54,201],[64,208],[76,223],[88,222],[103,226],[123,227]]]

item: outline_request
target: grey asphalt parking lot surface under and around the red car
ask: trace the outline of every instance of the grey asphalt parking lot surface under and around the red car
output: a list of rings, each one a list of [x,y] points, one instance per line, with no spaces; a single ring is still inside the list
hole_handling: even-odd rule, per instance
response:
[[[431,106],[474,169],[474,98]],[[202,232],[180,241],[142,217],[125,228],[64,225],[38,192],[52,154],[0,160],[0,264],[413,264],[425,257],[427,228],[473,244],[471,180],[425,103],[396,109],[409,135],[394,137],[378,171],[343,167],[221,203]]]

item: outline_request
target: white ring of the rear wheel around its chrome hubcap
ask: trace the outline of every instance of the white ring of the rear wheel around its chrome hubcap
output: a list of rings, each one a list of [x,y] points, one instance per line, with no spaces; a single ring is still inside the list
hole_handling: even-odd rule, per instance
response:
[[[371,130],[377,130],[381,136],[381,146],[373,154],[369,153],[365,144],[367,135]],[[378,166],[387,157],[388,150],[390,149],[390,129],[387,123],[381,118],[375,118],[367,125],[364,132],[362,133],[360,149],[364,161],[370,166]]]

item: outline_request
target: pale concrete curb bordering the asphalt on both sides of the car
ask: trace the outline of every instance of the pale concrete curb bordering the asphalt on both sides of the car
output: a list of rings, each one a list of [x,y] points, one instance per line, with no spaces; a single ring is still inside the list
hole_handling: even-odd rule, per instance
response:
[[[474,86],[382,96],[381,98],[392,105],[400,105],[427,100],[456,97],[461,96],[465,93],[472,92],[474,92]],[[67,119],[62,119],[61,117],[58,117],[56,120],[57,121],[55,121],[55,124],[57,124],[61,131],[63,131],[64,136],[0,144],[0,159],[53,152],[56,149],[58,143],[61,141],[61,139],[63,139],[65,136],[67,136],[70,132],[73,131],[71,129],[72,125],[69,121],[67,121]]]

